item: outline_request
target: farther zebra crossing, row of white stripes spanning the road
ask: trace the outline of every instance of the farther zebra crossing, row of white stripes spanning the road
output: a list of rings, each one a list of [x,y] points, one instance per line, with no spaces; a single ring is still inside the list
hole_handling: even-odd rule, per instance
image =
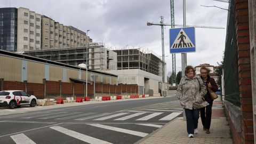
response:
[[[60,120],[74,120],[74,121],[85,121],[89,119],[90,121],[148,121],[153,118],[158,118],[157,121],[171,121],[173,118],[182,114],[181,110],[151,110],[151,111],[119,111],[115,113],[82,113],[74,112],[68,113],[64,111],[60,112],[48,112],[38,115],[29,115],[25,117],[20,117],[21,119],[41,119],[41,120],[50,120],[54,119],[56,121]]]

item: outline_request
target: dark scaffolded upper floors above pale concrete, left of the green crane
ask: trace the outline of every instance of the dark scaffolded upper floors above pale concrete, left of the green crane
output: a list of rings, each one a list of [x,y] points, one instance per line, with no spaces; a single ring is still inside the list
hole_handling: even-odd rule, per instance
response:
[[[162,60],[153,53],[140,49],[114,50],[117,53],[117,69],[141,69],[162,76]]]

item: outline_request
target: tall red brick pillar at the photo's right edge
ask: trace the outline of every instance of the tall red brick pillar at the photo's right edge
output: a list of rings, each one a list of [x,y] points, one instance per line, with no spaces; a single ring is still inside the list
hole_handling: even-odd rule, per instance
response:
[[[241,98],[242,111],[241,143],[254,143],[248,0],[234,0],[234,2],[238,52],[239,96]]]

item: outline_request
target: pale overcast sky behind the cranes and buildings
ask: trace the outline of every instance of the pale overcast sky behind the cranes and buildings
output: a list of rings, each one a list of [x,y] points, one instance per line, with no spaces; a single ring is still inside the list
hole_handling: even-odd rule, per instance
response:
[[[153,51],[162,56],[161,26],[171,23],[170,0],[0,0],[1,7],[26,7],[44,14],[65,26],[74,26],[82,31],[90,29],[94,42],[103,42],[113,49],[138,48]],[[183,24],[183,1],[174,0],[175,25]],[[187,54],[187,65],[209,63],[217,66],[225,50],[228,3],[213,0],[186,0],[187,25],[223,27],[225,29],[196,28],[196,52]],[[167,73],[172,70],[169,48],[169,29],[164,29]],[[177,27],[178,28],[178,27]],[[177,72],[181,69],[181,54],[176,54]]]

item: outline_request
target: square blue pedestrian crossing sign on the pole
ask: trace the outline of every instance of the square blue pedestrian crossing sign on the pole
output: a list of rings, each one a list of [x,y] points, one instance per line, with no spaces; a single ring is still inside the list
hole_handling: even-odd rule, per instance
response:
[[[170,29],[170,53],[187,53],[195,51],[195,27]]]

